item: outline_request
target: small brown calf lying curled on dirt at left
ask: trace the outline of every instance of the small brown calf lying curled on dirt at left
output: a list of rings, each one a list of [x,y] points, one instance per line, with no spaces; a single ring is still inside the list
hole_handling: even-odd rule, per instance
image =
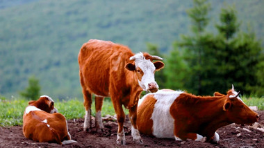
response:
[[[60,145],[76,142],[71,140],[66,118],[57,113],[49,96],[42,95],[37,101],[28,104],[23,115],[23,134],[26,138]]]

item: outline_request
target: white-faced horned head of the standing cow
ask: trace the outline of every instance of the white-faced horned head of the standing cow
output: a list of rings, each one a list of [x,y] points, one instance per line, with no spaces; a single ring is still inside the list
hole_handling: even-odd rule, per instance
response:
[[[162,60],[161,57],[149,55],[148,53],[138,53],[130,57],[133,63],[126,64],[129,71],[134,71],[138,78],[138,84],[144,91],[155,93],[158,91],[158,84],[155,82],[154,73],[164,67],[163,62],[153,60]]]

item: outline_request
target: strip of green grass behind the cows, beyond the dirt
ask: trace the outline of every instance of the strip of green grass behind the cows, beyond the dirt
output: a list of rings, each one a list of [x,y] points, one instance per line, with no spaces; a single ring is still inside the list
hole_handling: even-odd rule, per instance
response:
[[[257,106],[259,110],[264,110],[264,98],[242,97],[242,100],[248,106]],[[6,100],[6,98],[0,99],[0,127],[9,127],[23,124],[23,113],[28,105],[28,100]],[[73,99],[68,101],[55,101],[55,107],[59,113],[65,115],[67,119],[83,118],[85,109],[83,107],[83,101]],[[92,115],[95,114],[94,101],[92,103]],[[125,113],[129,111],[124,109]],[[110,100],[104,100],[101,115],[114,115],[113,104]]]

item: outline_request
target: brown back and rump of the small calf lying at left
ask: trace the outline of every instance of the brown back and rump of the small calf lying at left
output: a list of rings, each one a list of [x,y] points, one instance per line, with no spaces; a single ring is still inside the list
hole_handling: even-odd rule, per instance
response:
[[[23,134],[39,142],[57,142],[67,137],[66,120],[60,113],[31,111],[24,114]]]

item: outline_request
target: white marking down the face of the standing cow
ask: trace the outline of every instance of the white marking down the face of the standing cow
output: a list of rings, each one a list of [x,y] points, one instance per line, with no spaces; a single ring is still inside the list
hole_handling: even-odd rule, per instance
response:
[[[141,81],[138,80],[138,84],[144,91],[149,91],[149,83],[155,82],[154,71],[156,68],[154,64],[149,59],[145,59],[141,52],[137,53],[133,57],[130,57],[130,59],[135,60],[135,67],[139,67],[144,73]],[[158,89],[158,84],[156,84],[156,86]]]

